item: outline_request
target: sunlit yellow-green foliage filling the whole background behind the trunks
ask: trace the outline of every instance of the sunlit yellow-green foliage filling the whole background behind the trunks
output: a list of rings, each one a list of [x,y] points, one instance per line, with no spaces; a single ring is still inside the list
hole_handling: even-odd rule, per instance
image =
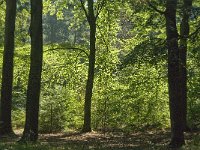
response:
[[[100,2],[95,1],[95,8]],[[151,2],[163,10],[164,1]],[[198,4],[196,1],[192,10],[191,32],[199,26]],[[140,0],[105,1],[103,6],[97,20],[93,128],[134,130],[168,127],[164,17]],[[5,3],[0,5],[0,46],[3,45],[4,9]],[[12,106],[15,128],[23,127],[25,120],[30,62],[29,9],[26,1],[18,2]],[[83,124],[89,25],[79,0],[46,0],[43,18],[46,45],[40,131],[79,130]],[[194,127],[200,123],[198,41],[196,32],[189,39],[188,55],[188,118]],[[1,47],[1,64],[2,51]]]

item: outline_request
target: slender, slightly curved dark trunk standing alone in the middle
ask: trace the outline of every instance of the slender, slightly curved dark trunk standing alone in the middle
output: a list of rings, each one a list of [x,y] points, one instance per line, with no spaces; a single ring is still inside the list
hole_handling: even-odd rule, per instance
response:
[[[84,125],[83,132],[91,131],[91,99],[94,83],[95,53],[96,53],[96,17],[94,15],[93,0],[88,0],[88,23],[90,25],[90,55],[88,79],[85,92]]]

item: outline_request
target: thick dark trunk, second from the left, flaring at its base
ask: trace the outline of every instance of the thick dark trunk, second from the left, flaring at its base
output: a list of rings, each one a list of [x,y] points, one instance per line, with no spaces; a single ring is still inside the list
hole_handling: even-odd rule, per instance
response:
[[[42,0],[31,0],[31,65],[29,71],[26,122],[22,141],[38,139],[40,82],[43,58]]]

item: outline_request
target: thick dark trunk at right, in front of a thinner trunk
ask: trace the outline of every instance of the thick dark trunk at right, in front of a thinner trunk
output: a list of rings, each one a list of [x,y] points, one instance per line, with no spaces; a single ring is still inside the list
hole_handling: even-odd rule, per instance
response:
[[[168,86],[171,121],[171,147],[181,147],[184,144],[183,107],[180,98],[179,77],[179,47],[176,26],[177,0],[167,0],[166,3],[166,34],[168,47]]]

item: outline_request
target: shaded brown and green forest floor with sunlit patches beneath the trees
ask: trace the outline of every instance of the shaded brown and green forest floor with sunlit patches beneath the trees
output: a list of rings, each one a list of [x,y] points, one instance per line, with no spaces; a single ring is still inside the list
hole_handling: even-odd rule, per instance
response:
[[[169,130],[40,134],[39,142],[19,144],[17,136],[1,137],[0,150],[167,150]],[[200,150],[200,132],[186,133],[183,150]]]

